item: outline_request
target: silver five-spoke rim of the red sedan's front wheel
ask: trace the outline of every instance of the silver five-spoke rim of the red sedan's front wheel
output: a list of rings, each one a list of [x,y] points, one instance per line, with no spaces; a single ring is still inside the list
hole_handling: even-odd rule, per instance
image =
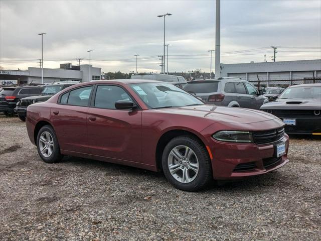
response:
[[[199,172],[199,161],[195,152],[187,146],[172,149],[168,158],[171,175],[179,182],[192,182]]]

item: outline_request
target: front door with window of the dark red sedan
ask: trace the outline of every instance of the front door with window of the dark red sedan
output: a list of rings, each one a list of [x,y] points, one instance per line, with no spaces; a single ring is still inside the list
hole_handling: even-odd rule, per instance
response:
[[[88,144],[93,155],[141,162],[141,110],[115,108],[117,100],[132,100],[117,85],[97,85],[88,109]]]

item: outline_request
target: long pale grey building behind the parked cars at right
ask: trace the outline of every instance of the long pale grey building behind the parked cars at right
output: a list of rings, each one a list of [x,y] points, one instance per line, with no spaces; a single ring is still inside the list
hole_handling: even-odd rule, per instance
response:
[[[220,73],[222,77],[236,77],[252,82],[257,81],[258,78],[260,81],[269,81],[269,83],[276,80],[299,82],[313,79],[313,74],[315,79],[321,79],[321,59],[221,64]]]

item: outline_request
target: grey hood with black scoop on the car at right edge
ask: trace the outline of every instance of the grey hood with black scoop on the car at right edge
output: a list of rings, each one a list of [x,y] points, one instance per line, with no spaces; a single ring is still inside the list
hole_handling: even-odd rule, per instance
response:
[[[276,99],[263,104],[261,109],[321,109],[321,98]]]

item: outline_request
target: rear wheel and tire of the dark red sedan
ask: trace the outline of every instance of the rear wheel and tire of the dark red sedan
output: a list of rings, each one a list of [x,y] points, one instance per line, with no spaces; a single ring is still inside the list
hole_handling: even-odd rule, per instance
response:
[[[63,155],[60,154],[56,133],[51,126],[47,125],[39,130],[37,150],[41,159],[46,163],[60,162],[63,158]]]

